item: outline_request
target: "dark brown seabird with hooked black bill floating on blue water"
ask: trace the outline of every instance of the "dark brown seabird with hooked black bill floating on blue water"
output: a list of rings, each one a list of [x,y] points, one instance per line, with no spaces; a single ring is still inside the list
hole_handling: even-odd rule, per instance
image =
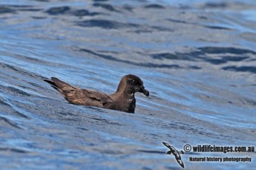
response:
[[[136,99],[134,94],[141,92],[145,96],[149,95],[148,90],[143,86],[143,81],[138,76],[128,74],[123,76],[116,92],[114,94],[106,94],[87,89],[80,89],[77,86],[72,86],[58,78],[52,77],[52,81],[44,80],[60,92],[68,103],[95,106],[106,108],[109,110],[119,110],[128,113],[134,113],[136,107]]]

